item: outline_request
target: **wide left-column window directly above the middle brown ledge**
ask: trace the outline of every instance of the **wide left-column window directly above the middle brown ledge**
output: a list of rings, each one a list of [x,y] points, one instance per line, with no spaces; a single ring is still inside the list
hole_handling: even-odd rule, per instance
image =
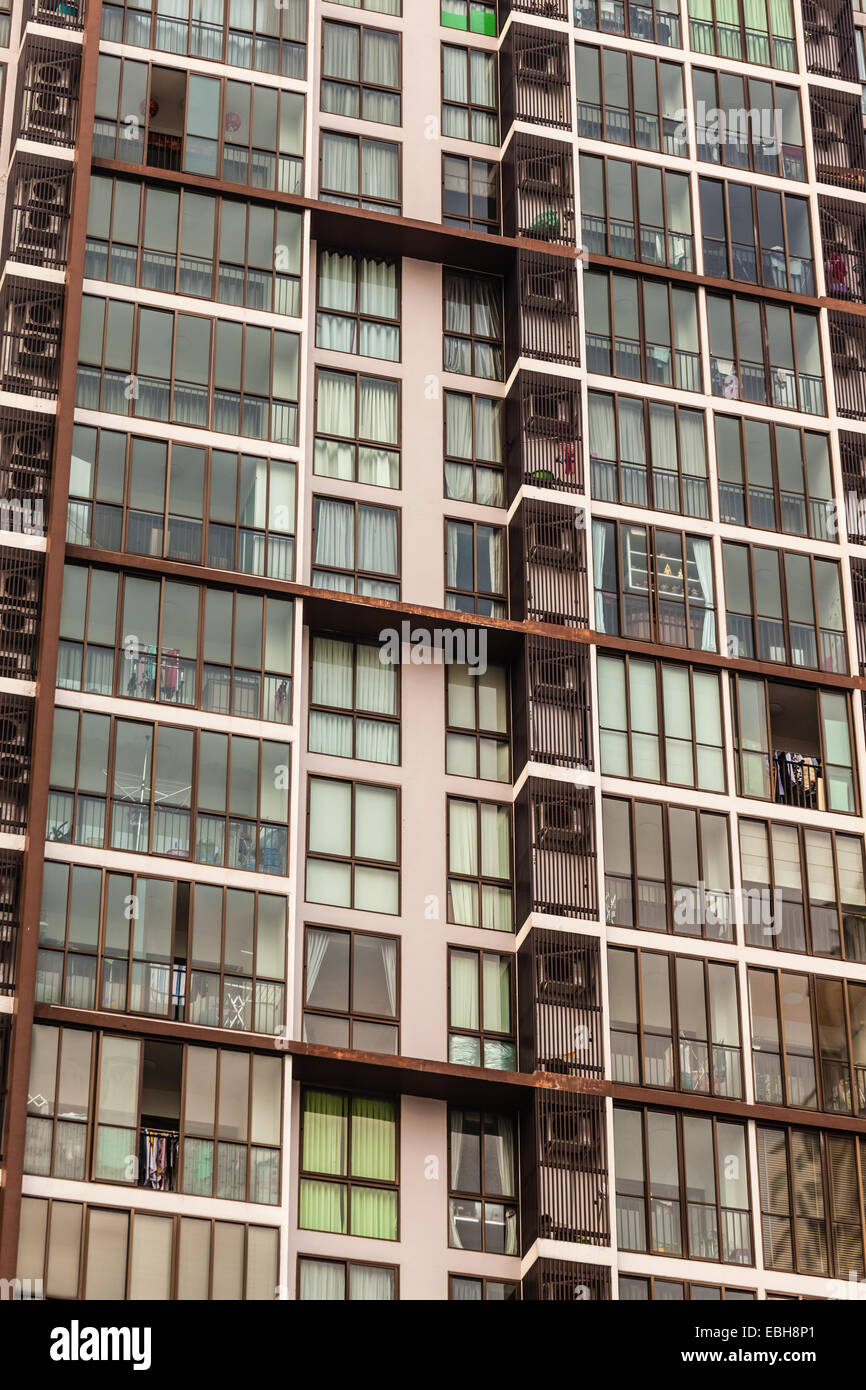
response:
[[[67,541],[293,580],[295,470],[75,425]]]

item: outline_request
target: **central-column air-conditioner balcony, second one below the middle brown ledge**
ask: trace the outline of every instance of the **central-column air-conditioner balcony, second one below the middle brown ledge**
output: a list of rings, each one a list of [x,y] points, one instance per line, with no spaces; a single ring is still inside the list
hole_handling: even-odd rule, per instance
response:
[[[514,805],[517,924],[531,913],[596,917],[592,790],[530,777]]]

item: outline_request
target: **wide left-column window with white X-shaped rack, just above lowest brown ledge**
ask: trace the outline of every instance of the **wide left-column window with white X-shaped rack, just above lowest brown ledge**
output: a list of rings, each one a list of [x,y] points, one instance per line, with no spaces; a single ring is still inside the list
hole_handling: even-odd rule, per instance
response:
[[[286,899],[46,860],[36,998],[274,1034]]]

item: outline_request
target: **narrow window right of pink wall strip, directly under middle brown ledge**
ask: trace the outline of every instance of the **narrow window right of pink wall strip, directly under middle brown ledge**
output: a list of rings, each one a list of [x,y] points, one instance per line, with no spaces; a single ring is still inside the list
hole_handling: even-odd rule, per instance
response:
[[[510,781],[509,677],[503,666],[481,673],[445,669],[445,770],[455,777]]]

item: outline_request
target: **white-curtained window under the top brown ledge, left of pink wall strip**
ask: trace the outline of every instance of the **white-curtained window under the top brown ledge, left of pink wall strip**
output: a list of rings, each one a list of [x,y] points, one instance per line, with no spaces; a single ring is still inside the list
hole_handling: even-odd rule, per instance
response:
[[[318,253],[316,346],[400,360],[400,291],[392,261]]]

